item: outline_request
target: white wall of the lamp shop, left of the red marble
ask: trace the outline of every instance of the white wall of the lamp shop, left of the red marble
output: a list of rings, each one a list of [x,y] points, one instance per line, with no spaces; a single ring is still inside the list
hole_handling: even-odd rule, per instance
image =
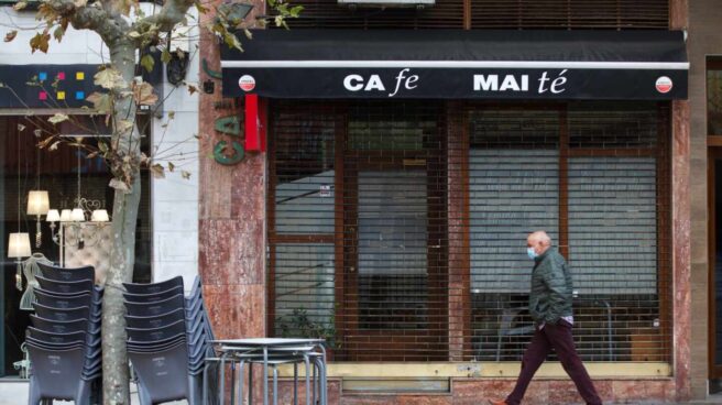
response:
[[[151,13],[154,6],[143,3],[142,7]],[[11,7],[0,7],[0,33],[4,36],[13,26],[36,26],[34,15],[34,11],[15,12]],[[33,30],[20,30],[14,41],[0,43],[0,64],[95,65],[108,61],[107,48],[92,32],[69,28],[59,44],[54,40],[51,42],[47,54],[31,54],[29,42],[34,34]],[[197,29],[189,33],[189,37],[198,37]],[[192,40],[192,59],[186,75],[186,81],[195,84],[199,81],[197,43]],[[160,157],[167,157],[178,168],[164,179],[152,179],[153,281],[183,275],[186,285],[190,285],[198,272],[198,141],[194,138],[198,134],[198,95],[190,95],[183,86],[164,86],[164,95],[168,97],[163,108],[164,117],[153,119],[153,147],[157,147]],[[168,120],[169,111],[175,112],[175,119]],[[167,128],[163,128],[165,123]],[[180,171],[189,172],[190,179],[182,178]]]

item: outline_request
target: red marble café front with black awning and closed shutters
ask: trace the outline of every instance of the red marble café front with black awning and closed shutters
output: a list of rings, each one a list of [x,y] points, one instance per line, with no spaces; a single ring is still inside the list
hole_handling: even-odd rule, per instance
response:
[[[247,131],[200,122],[215,136],[199,271],[219,336],[327,338],[335,403],[500,397],[528,341],[524,239],[546,229],[603,398],[708,395],[707,348],[690,344],[710,313],[692,282],[709,272],[692,274],[690,187],[707,174],[690,175],[690,103],[694,7],[715,6],[300,3],[289,32],[256,32],[243,54],[201,50],[222,70],[204,73],[222,89],[201,117]],[[241,162],[203,158],[233,141]],[[558,363],[538,375],[529,403],[579,401]]]

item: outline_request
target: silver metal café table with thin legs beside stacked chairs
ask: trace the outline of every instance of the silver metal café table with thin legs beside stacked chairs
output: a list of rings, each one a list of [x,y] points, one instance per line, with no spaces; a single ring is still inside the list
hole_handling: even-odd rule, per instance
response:
[[[219,397],[221,405],[225,405],[226,386],[225,371],[226,362],[230,361],[231,371],[234,374],[236,363],[241,364],[239,397],[242,398],[243,390],[243,364],[249,364],[249,404],[252,403],[253,396],[253,363],[263,364],[263,405],[269,405],[269,366],[273,366],[273,402],[277,403],[277,369],[280,364],[294,364],[294,404],[297,404],[297,384],[298,384],[298,363],[306,364],[306,403],[309,404],[309,361],[314,360],[314,401],[316,397],[316,369],[318,368],[318,388],[321,405],[327,404],[326,398],[326,349],[324,339],[283,339],[283,338],[251,338],[251,339],[221,339],[214,340],[220,357],[207,359],[207,368],[211,362],[220,363],[220,388]],[[206,374],[206,372],[204,372]],[[233,375],[234,376],[234,375]],[[234,377],[231,379],[231,405],[234,403]],[[204,375],[204,391],[207,390],[207,375]],[[207,395],[204,393],[204,398]],[[314,404],[315,405],[315,404]]]

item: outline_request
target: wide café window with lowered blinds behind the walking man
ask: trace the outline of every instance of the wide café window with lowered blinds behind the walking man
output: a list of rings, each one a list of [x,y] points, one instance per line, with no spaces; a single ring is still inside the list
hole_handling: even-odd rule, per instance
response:
[[[665,107],[580,102],[549,112],[499,110],[470,112],[474,358],[521,359],[528,336],[506,333],[530,322],[524,238],[544,229],[572,269],[582,358],[667,361]],[[488,128],[515,134],[504,142]],[[536,144],[523,140],[524,128],[539,129],[529,131]],[[544,150],[550,143],[555,147]]]

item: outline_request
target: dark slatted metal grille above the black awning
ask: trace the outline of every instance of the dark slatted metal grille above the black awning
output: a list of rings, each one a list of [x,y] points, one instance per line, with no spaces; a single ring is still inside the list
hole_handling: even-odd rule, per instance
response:
[[[666,30],[669,0],[436,0],[424,9],[359,8],[296,0],[293,29]]]

